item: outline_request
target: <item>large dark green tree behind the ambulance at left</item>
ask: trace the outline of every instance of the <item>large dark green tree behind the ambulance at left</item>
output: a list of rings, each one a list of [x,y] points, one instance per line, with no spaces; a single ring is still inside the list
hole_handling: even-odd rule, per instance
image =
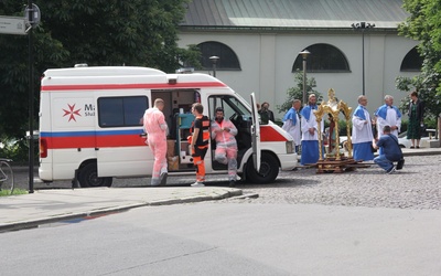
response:
[[[200,66],[196,46],[179,49],[178,24],[189,0],[46,0],[34,34],[34,104],[47,68],[93,65],[149,66],[174,72]],[[24,1],[25,2],[25,1]],[[22,17],[24,4],[0,2],[1,15]],[[28,36],[0,34],[0,134],[20,137],[28,123]],[[35,116],[36,118],[36,116]]]

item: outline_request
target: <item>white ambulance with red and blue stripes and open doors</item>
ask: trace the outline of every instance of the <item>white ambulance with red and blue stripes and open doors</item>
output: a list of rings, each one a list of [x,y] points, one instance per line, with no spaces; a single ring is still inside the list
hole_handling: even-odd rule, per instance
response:
[[[110,187],[112,178],[147,177],[153,155],[142,137],[142,116],[155,98],[170,135],[169,176],[192,174],[195,168],[186,137],[193,103],[214,118],[216,107],[237,127],[238,174],[250,182],[273,181],[279,168],[292,170],[292,138],[279,126],[259,126],[254,95],[249,105],[226,84],[206,74],[165,74],[131,66],[47,70],[41,81],[41,180],[73,180],[80,187]],[[255,140],[255,142],[252,142]],[[215,141],[205,157],[206,173],[225,173],[214,160]],[[256,170],[256,168],[258,168]]]

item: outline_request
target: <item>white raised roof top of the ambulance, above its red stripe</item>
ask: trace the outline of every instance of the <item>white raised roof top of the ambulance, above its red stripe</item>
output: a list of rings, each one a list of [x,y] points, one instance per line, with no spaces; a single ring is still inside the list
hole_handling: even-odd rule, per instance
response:
[[[127,75],[157,75],[164,76],[164,72],[155,68],[136,66],[92,66],[51,68],[44,76],[127,76]]]

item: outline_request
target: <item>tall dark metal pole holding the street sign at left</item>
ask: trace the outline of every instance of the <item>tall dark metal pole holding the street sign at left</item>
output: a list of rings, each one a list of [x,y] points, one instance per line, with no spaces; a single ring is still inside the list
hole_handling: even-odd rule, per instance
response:
[[[32,0],[28,0],[29,22],[33,22]],[[29,193],[34,192],[34,82],[33,82],[33,30],[29,30]]]

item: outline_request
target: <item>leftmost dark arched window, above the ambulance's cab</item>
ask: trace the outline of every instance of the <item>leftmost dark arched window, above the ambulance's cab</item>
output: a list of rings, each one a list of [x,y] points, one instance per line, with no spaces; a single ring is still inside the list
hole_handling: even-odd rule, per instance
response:
[[[236,53],[227,45],[220,42],[207,41],[197,45],[202,53],[201,64],[204,70],[212,70],[213,62],[209,56],[218,56],[219,60],[216,62],[216,70],[240,70],[239,60]]]

